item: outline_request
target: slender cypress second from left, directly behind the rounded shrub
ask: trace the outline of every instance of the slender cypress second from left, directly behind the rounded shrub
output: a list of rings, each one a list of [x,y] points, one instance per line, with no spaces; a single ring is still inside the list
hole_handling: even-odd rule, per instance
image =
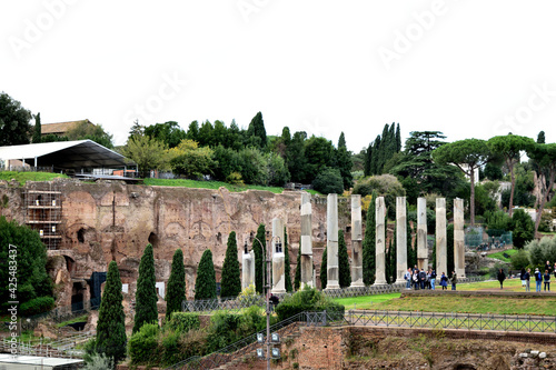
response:
[[[139,331],[145,323],[158,323],[157,301],[155,256],[152,253],[152,244],[148,243],[139,263],[133,333]]]

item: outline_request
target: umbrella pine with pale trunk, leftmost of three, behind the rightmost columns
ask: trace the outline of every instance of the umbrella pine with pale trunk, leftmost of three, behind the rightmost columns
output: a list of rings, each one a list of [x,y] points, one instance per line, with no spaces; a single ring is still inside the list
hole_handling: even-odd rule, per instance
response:
[[[444,144],[433,151],[433,159],[439,164],[457,166],[469,177],[471,194],[469,200],[470,224],[475,226],[475,171],[490,158],[487,143],[480,139],[465,139]]]

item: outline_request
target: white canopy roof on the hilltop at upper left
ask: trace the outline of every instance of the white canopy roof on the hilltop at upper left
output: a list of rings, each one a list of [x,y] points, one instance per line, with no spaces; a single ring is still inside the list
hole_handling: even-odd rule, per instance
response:
[[[92,140],[41,142],[26,146],[0,147],[0,159],[27,160],[27,163],[60,169],[110,168],[135,164]]]

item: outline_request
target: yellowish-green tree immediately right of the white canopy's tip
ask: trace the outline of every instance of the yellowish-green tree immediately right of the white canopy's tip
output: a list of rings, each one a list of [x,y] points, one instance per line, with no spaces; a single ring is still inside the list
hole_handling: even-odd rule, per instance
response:
[[[135,136],[129,139],[122,154],[136,162],[140,172],[169,169],[166,146],[149,136]]]

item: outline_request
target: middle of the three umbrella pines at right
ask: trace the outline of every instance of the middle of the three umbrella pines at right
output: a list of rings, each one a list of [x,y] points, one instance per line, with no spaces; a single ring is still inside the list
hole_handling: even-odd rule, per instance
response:
[[[504,163],[509,170],[512,179],[512,188],[509,193],[509,217],[512,217],[514,208],[514,189],[516,184],[516,176],[514,166],[519,162],[519,152],[533,147],[535,141],[527,137],[508,133],[488,139],[487,144],[490,151],[504,159]]]

